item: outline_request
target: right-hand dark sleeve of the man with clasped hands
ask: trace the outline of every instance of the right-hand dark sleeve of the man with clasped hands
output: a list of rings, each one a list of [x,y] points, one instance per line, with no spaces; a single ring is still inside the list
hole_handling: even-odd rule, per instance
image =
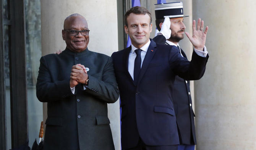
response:
[[[86,93],[96,96],[107,103],[115,103],[119,97],[119,90],[115,73],[113,68],[112,58],[108,57],[107,63],[104,66],[102,80],[97,79],[91,75],[89,77],[89,84],[84,90]]]

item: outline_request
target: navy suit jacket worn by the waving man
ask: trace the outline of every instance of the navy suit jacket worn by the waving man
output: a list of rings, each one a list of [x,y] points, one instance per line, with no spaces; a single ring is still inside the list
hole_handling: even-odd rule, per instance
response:
[[[189,62],[177,47],[151,40],[136,86],[128,72],[130,51],[131,46],[112,54],[122,107],[122,148],[135,147],[139,137],[146,145],[180,144],[172,100],[174,79],[176,75],[200,79],[208,57],[193,53]]]

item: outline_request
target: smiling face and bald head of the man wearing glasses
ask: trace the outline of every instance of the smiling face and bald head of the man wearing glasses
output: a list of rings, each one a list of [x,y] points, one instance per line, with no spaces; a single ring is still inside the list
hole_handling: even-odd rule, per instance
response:
[[[71,16],[64,21],[64,30],[62,30],[62,38],[66,42],[66,47],[73,52],[82,52],[89,43],[89,35],[70,35],[65,30],[88,30],[87,21],[83,16]]]

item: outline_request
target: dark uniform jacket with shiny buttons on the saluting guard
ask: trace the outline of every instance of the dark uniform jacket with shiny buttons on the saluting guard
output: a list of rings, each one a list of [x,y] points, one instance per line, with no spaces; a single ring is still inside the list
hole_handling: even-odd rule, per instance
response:
[[[156,36],[153,39],[156,43],[167,44],[164,36]],[[181,49],[181,54],[186,57]],[[180,144],[195,145],[196,131],[194,125],[194,112],[190,95],[190,81],[186,81],[179,76],[175,76],[172,93],[174,110],[176,114],[177,126],[180,137]]]

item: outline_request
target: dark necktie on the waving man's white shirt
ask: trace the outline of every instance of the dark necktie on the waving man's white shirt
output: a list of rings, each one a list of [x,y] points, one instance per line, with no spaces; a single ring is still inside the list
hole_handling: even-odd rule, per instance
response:
[[[134,61],[133,80],[134,83],[137,85],[139,71],[141,71],[141,49],[136,49],[135,52],[137,56]]]

